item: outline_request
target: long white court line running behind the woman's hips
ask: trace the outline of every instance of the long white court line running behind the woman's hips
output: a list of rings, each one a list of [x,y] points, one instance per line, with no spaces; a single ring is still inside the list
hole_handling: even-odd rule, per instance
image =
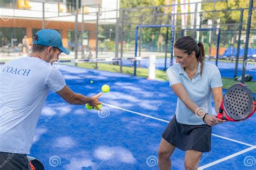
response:
[[[126,111],[126,112],[130,112],[130,113],[134,113],[134,114],[138,114],[138,115],[142,115],[144,117],[147,117],[147,118],[151,118],[151,119],[154,119],[154,120],[159,120],[159,121],[163,121],[165,123],[169,123],[170,121],[167,121],[167,120],[164,120],[164,119],[159,119],[159,118],[155,118],[155,117],[152,117],[150,115],[147,115],[147,114],[143,114],[143,113],[139,113],[139,112],[134,112],[134,111],[130,111],[130,110],[127,110],[125,108],[121,108],[121,107],[117,107],[117,106],[114,106],[114,105],[110,105],[110,104],[106,104],[106,103],[102,103],[103,105],[106,105],[106,106],[109,106],[109,107],[112,107],[112,108],[117,108],[118,110],[122,110],[122,111]],[[254,145],[250,145],[250,144],[246,144],[245,142],[241,142],[241,141],[238,141],[238,140],[234,140],[234,139],[230,139],[230,138],[226,138],[226,137],[221,137],[220,135],[217,135],[217,134],[213,134],[213,136],[215,137],[218,137],[218,138],[223,138],[223,139],[226,139],[226,140],[230,140],[230,141],[233,141],[233,142],[237,142],[239,144],[242,144],[242,145],[247,145],[247,146],[254,146]]]

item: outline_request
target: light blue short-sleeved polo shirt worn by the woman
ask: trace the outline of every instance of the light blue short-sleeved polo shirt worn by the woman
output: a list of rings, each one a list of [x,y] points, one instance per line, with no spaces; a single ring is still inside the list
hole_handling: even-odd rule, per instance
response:
[[[214,87],[223,86],[219,69],[216,65],[210,63],[204,63],[203,73],[200,76],[199,62],[196,75],[190,80],[185,70],[179,65],[174,64],[167,69],[167,77],[169,79],[170,86],[181,83],[187,91],[190,99],[196,103],[199,107],[203,108],[208,114],[212,114],[212,90]],[[204,121],[198,117],[198,115],[191,112],[178,98],[176,107],[176,119],[180,124],[187,125],[202,125]]]

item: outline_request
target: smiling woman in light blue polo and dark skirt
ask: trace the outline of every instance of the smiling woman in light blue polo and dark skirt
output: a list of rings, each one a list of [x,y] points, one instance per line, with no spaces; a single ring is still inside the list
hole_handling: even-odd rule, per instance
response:
[[[176,63],[166,71],[177,95],[176,112],[162,134],[159,169],[171,169],[170,157],[177,147],[185,154],[185,169],[197,169],[203,152],[211,149],[212,126],[223,123],[212,115],[211,96],[218,112],[222,81],[218,67],[205,63],[204,45],[189,36],[174,44]]]

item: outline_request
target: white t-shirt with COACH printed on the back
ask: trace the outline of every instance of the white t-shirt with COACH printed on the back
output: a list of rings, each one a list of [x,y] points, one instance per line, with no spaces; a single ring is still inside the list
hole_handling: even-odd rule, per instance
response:
[[[0,152],[30,153],[49,90],[65,85],[62,73],[39,58],[15,59],[0,68]]]

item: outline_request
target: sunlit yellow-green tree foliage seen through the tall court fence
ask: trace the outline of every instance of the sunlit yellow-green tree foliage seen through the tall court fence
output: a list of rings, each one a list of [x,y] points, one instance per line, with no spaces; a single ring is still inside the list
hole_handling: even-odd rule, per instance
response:
[[[124,8],[138,8],[138,7],[149,7],[149,6],[159,6],[164,5],[166,3],[172,3],[173,0],[120,0],[120,9]],[[180,1],[178,1],[180,3]],[[244,0],[226,0],[222,2],[215,2],[211,3],[201,3],[201,11],[213,11],[213,10],[229,10],[229,9],[240,9],[240,8],[248,8],[249,1]],[[135,37],[135,27],[136,25],[144,24],[144,25],[153,25],[153,24],[160,24],[164,25],[167,21],[166,15],[161,15],[166,13],[171,13],[172,8],[171,7],[156,7],[156,8],[143,8],[139,10],[133,10],[133,11],[126,11],[125,12],[125,21],[124,21],[124,43],[128,43],[129,49],[134,45],[134,37]],[[256,10],[255,10],[256,11]],[[254,13],[255,13],[254,11]],[[181,6],[177,6],[177,12],[181,13]],[[184,11],[183,11],[184,12]],[[188,5],[188,12],[190,12],[190,5]],[[143,16],[141,19],[140,16]],[[158,15],[158,16],[157,16]],[[205,16],[203,16],[203,22],[201,23],[203,28],[207,27],[207,21],[208,19],[213,19],[214,17],[214,27],[217,24],[217,19],[220,18],[220,28],[221,30],[238,30],[239,26],[239,19],[240,19],[240,10],[233,10],[233,11],[219,11],[219,12],[206,12],[204,13]],[[120,18],[122,18],[122,12],[119,13]],[[244,19],[243,19],[243,29],[246,29],[246,22],[247,22],[247,16],[248,16],[248,10],[244,11]],[[252,25],[251,29],[255,29],[255,14],[252,17]],[[176,20],[176,38],[181,36],[181,15],[177,15]],[[187,15],[187,24],[190,25],[190,18],[191,15]],[[170,24],[170,22],[169,22]],[[119,29],[116,30],[116,25],[100,25],[99,26],[99,33],[100,35],[104,35],[105,37],[109,36],[109,30],[112,29],[111,33],[111,40],[114,40],[115,38],[115,31],[118,31],[119,33],[119,39],[121,35],[120,31],[121,23],[119,23]],[[166,35],[166,28],[146,28],[142,29],[143,32],[143,45],[149,46],[156,44],[159,34],[163,34],[164,37]],[[200,31],[204,32],[204,31]],[[171,31],[169,30],[169,33]],[[201,34],[201,33],[200,33]],[[255,33],[254,33],[255,34]],[[152,40],[152,35],[155,36],[154,40]],[[170,35],[170,34],[169,34]],[[187,35],[190,35],[187,33]],[[230,32],[226,35],[221,34],[220,36],[220,47],[228,46],[230,44],[231,38],[237,35],[237,32]],[[204,36],[206,37],[206,36]],[[212,37],[208,37],[208,39],[211,38],[212,42],[209,44],[210,47],[215,47],[215,44],[217,42],[217,35],[215,33],[212,33]],[[140,39],[140,38],[139,38]],[[169,36],[170,39],[170,36]],[[205,38],[204,38],[205,39]],[[205,39],[204,42],[208,42],[208,39]],[[243,45],[243,44],[242,44]],[[207,47],[206,47],[207,49]]]

